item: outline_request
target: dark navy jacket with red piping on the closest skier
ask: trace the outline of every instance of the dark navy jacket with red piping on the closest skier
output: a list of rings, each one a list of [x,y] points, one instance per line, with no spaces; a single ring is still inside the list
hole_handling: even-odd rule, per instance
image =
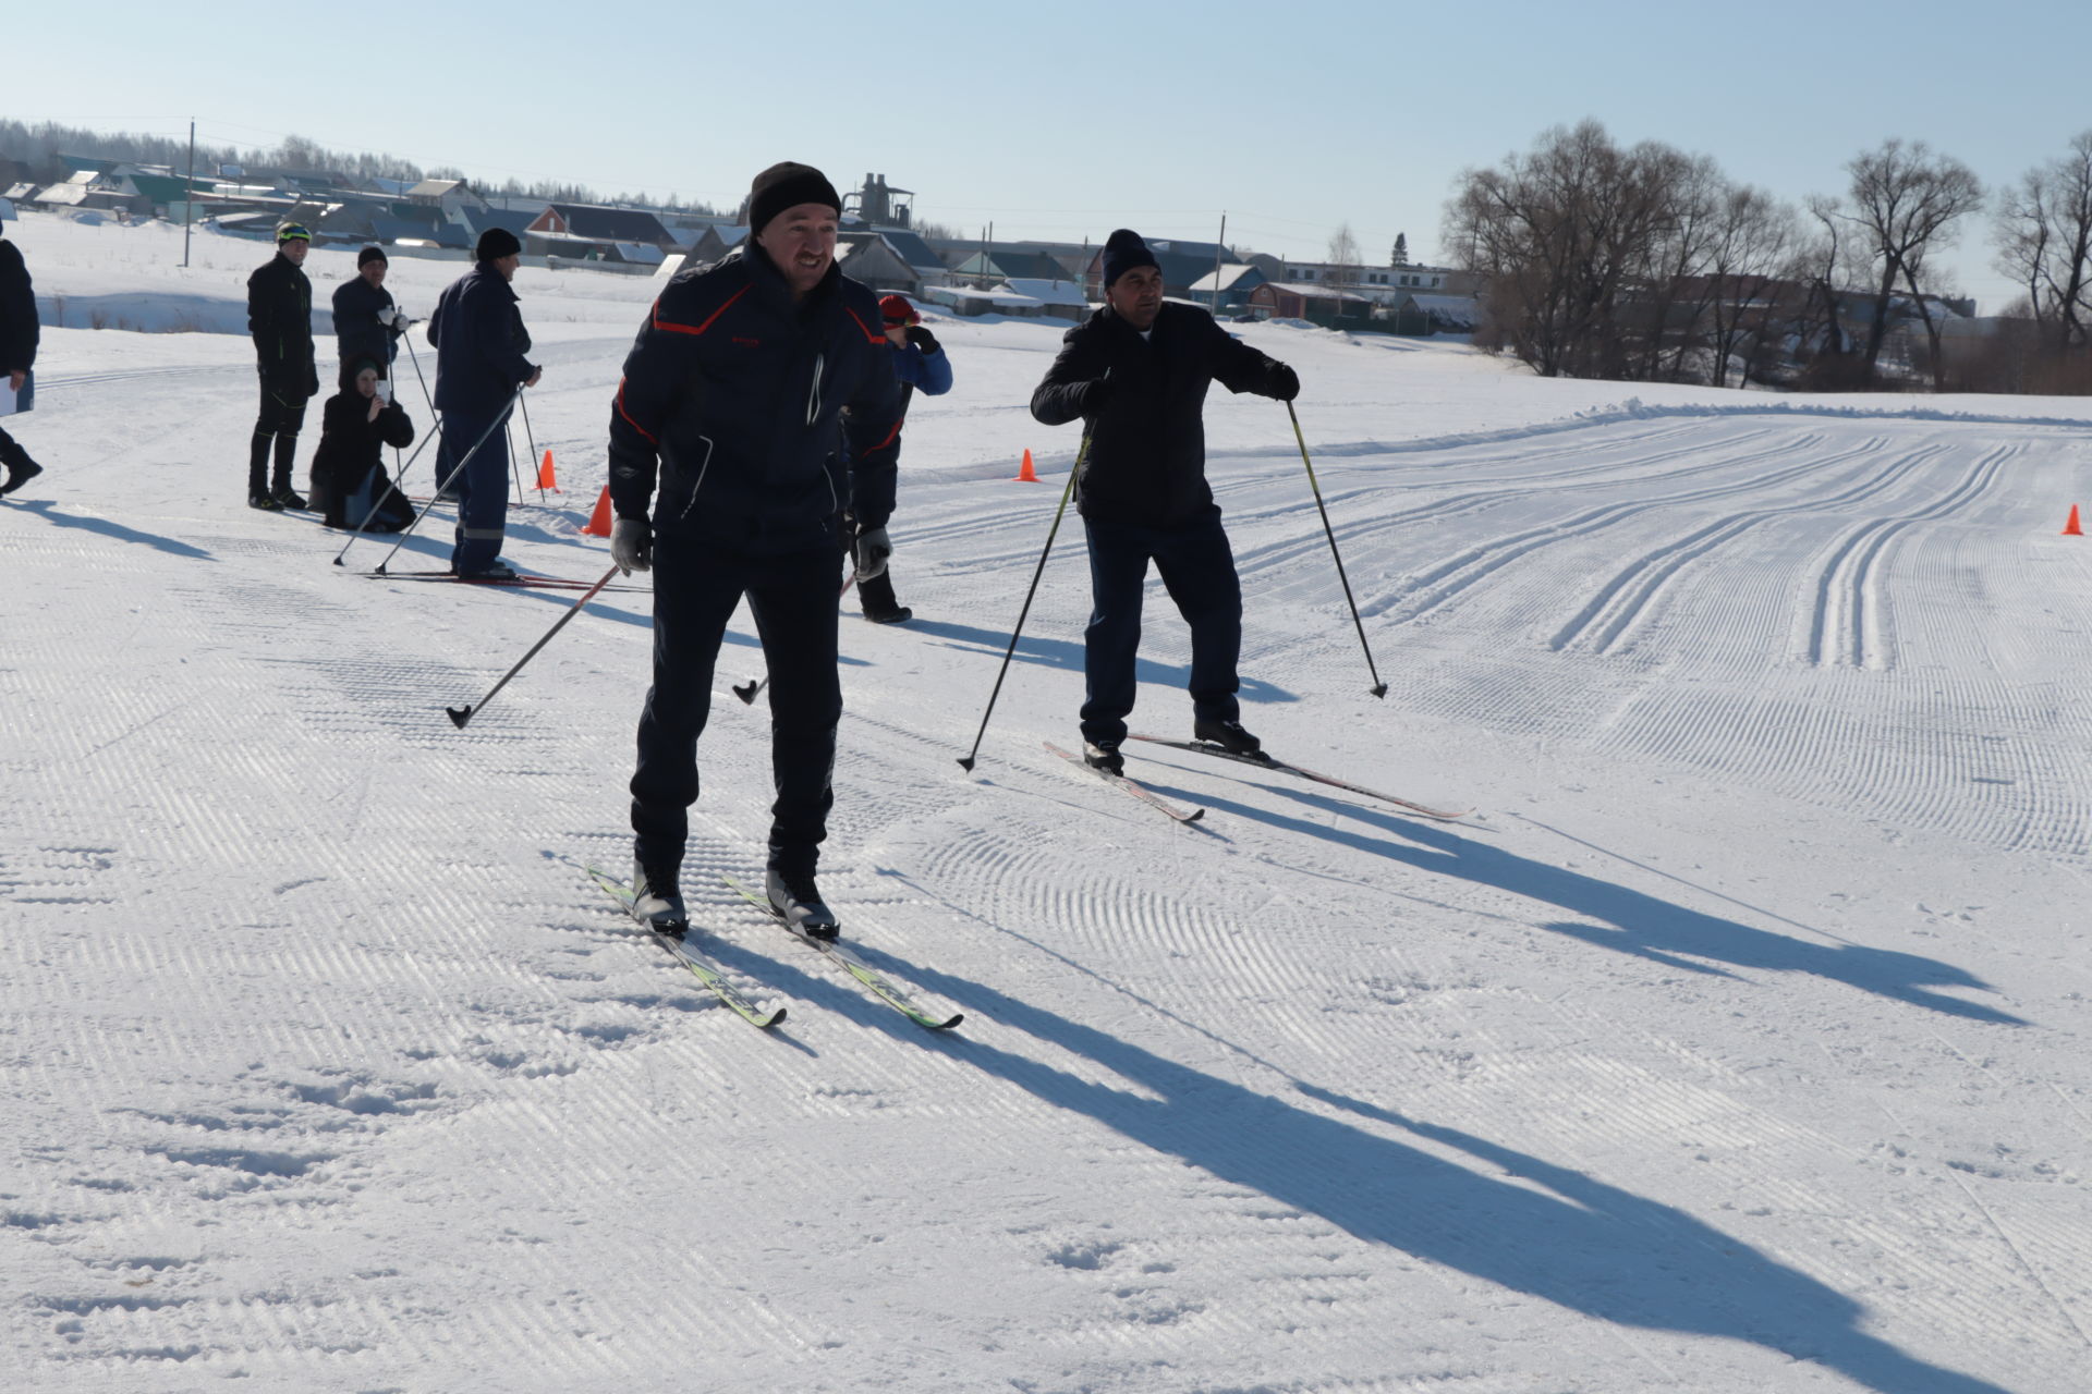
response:
[[[833,265],[797,305],[759,247],[678,274],[611,405],[617,516],[653,502],[655,531],[753,554],[835,541],[843,508],[885,525],[902,397],[881,328]]]

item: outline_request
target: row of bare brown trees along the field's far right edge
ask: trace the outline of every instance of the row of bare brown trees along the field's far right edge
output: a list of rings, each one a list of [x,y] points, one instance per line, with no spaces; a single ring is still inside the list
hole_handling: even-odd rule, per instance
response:
[[[1925,142],[1885,140],[1845,171],[1843,194],[1795,207],[1584,121],[1464,171],[1446,247],[1483,286],[1477,343],[1542,376],[2092,393],[2092,132],[1994,203]],[[1939,259],[1985,207],[2027,295],[1992,332],[1956,334],[1973,305]]]

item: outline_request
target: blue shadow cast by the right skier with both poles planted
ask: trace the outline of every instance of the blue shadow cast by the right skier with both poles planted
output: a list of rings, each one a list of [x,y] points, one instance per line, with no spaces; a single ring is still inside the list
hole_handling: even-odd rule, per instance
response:
[[[1282,780],[1284,775],[1274,777]],[[1862,993],[1874,993],[1877,997],[1889,997],[1893,1001],[1908,1001],[1914,1007],[1931,1007],[1933,1012],[1964,1016],[1977,1022],[2027,1026],[2023,1018],[2013,1016],[2010,1012],[1925,991],[1931,986],[1989,991],[1989,984],[1975,974],[1954,968],[1952,963],[1941,963],[1939,959],[1927,959],[1916,953],[1897,953],[1893,949],[1868,949],[1864,945],[1812,945],[1801,938],[1753,928],[1738,920],[1724,920],[1722,915],[1688,909],[1674,901],[1665,901],[1663,897],[1617,886],[1613,882],[1598,880],[1596,876],[1584,876],[1582,872],[1569,872],[1565,867],[1550,867],[1544,861],[1519,857],[1517,853],[1508,853],[1500,846],[1462,836],[1454,828],[1418,823],[1393,813],[1381,813],[1379,809],[1345,803],[1341,798],[1312,794],[1308,790],[1270,788],[1270,792],[1324,813],[1341,813],[1347,819],[1400,834],[1402,838],[1408,838],[1408,842],[1391,842],[1360,832],[1345,832],[1341,828],[1287,817],[1284,813],[1234,803],[1230,798],[1207,796],[1199,798],[1199,803],[1207,809],[1238,813],[1241,817],[1266,823],[1268,828],[1303,832],[1326,842],[1339,842],[1362,853],[1374,853],[1379,857],[1387,857],[1389,861],[1412,865],[1418,872],[1456,876],[1460,880],[1475,882],[1477,886],[1494,886],[1529,901],[1559,905],[1575,915],[1582,915],[1582,922],[1542,922],[1540,928],[1582,938],[1584,943],[1598,945],[1602,949],[1632,953],[1667,968],[1730,976],[1720,968],[1707,966],[1728,963],[1732,968],[1755,968],[1764,972],[1814,974],[1818,978],[1856,986]],[[1192,794],[1186,794],[1186,798],[1192,798]]]

